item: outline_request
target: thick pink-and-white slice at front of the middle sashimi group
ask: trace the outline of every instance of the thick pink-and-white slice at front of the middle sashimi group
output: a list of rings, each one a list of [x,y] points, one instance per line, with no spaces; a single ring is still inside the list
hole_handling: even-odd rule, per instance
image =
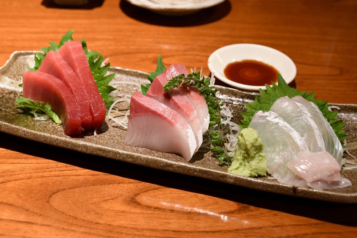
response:
[[[185,118],[140,92],[131,97],[124,144],[177,153],[186,161],[192,158],[196,148],[195,135]]]

